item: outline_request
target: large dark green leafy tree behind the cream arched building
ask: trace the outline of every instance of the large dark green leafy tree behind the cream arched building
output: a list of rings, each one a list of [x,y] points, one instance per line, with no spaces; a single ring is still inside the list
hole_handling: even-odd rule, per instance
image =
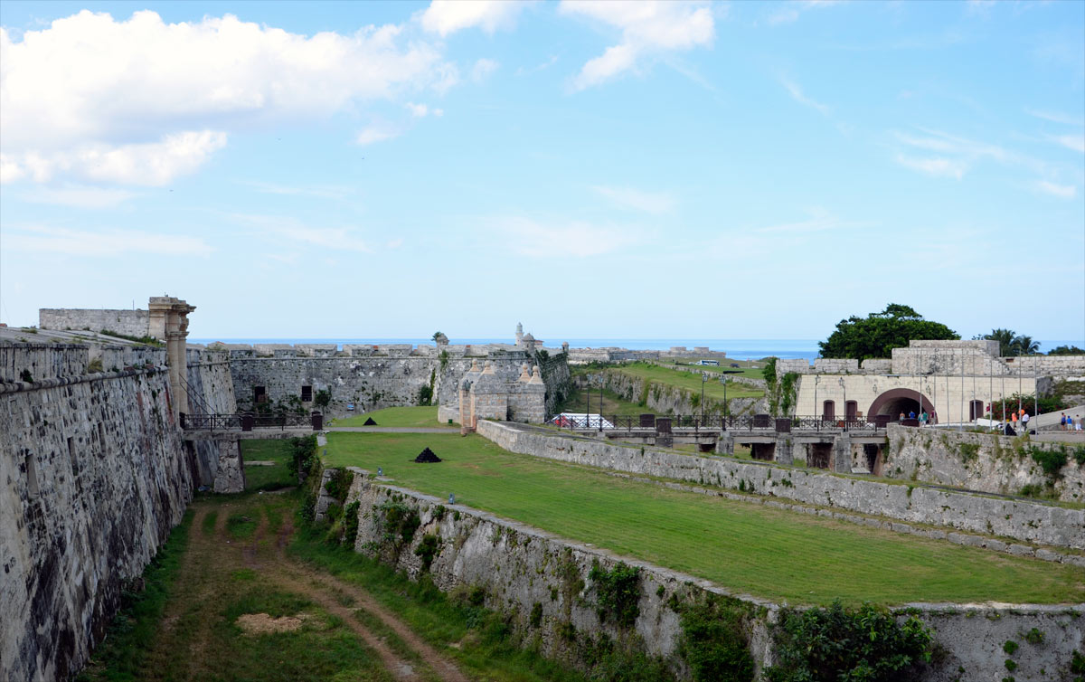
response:
[[[837,330],[818,343],[821,357],[890,357],[893,349],[914,339],[957,340],[956,331],[941,323],[923,319],[907,305],[890,303],[881,313],[855,315],[837,324]]]

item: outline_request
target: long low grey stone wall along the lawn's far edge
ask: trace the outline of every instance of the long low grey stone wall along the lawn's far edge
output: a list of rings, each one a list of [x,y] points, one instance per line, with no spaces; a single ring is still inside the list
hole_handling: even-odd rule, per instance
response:
[[[480,421],[477,432],[510,452],[615,471],[695,481],[804,504],[838,507],[914,523],[1085,550],[1085,509],[988,497],[924,485],[886,483],[808,469],[551,435],[518,425]],[[788,480],[792,484],[781,484]]]

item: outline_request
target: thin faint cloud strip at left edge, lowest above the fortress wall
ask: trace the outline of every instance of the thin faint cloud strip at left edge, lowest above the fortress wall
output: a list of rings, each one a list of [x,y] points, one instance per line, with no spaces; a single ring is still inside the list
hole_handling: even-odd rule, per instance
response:
[[[202,239],[155,235],[137,230],[111,229],[102,232],[29,226],[5,227],[4,249],[76,256],[118,256],[128,253],[158,255],[209,255],[213,249]]]

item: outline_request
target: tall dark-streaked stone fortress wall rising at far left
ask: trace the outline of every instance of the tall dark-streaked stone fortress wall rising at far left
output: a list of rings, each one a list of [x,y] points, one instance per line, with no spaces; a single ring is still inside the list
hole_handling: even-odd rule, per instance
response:
[[[52,351],[66,376],[0,383],[2,680],[78,670],[192,494],[166,369],[87,375],[86,348],[0,356]]]

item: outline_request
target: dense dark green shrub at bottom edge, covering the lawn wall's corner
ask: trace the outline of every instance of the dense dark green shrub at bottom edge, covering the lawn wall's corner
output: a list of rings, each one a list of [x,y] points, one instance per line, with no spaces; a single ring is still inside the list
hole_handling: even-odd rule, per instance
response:
[[[931,660],[931,631],[918,618],[897,623],[869,603],[784,610],[774,635],[779,662],[765,670],[771,682],[908,680],[917,664]]]

